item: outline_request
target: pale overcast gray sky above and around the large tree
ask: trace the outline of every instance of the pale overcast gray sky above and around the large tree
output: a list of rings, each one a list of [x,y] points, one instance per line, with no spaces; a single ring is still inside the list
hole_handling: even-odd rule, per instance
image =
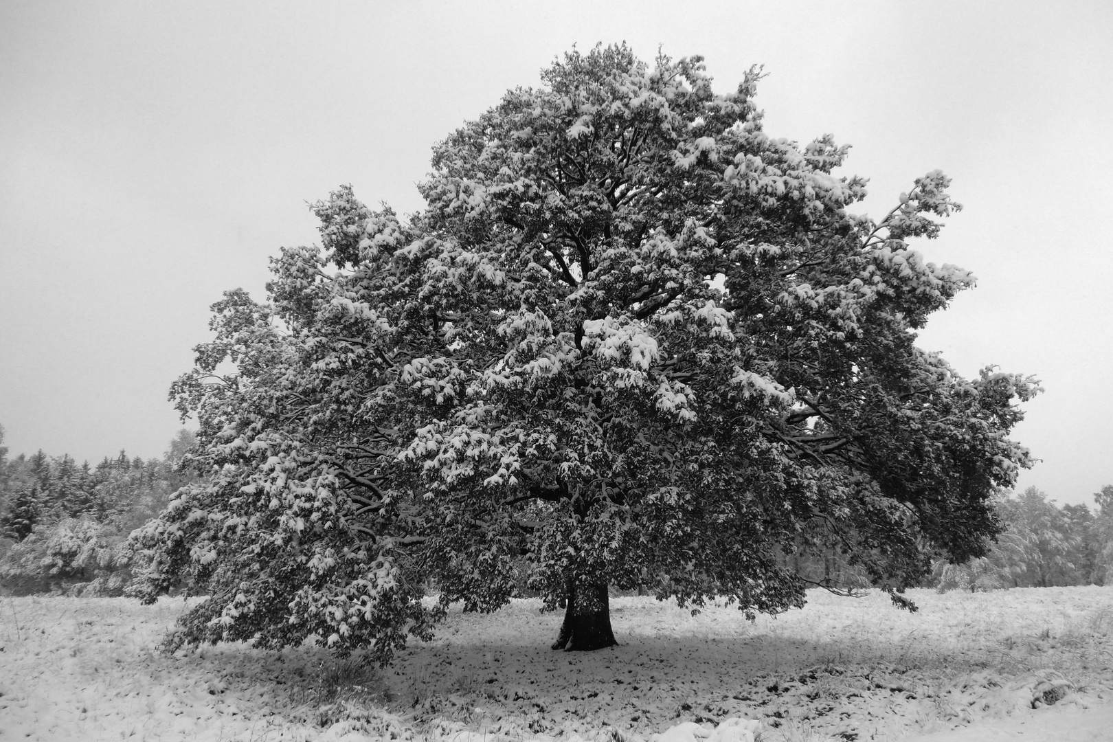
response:
[[[1037,375],[1014,437],[1061,503],[1113,483],[1113,3],[0,2],[0,424],[12,454],[158,456],[208,305],[263,298],[351,182],[422,207],[431,146],[572,44],[765,65],[772,136],[833,132],[881,216],[942,168],[928,259],[978,286],[920,345]]]

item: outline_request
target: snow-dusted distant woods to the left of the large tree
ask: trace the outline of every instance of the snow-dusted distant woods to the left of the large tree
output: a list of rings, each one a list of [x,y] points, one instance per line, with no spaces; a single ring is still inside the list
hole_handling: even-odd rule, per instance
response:
[[[183,429],[161,458],[120,451],[95,466],[0,445],[0,591],[122,594],[142,566],[128,536],[196,479],[180,466],[193,445]]]

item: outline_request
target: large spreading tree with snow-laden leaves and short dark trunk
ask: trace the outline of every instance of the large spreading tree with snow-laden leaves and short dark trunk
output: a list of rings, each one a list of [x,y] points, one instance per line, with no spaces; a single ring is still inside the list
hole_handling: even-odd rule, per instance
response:
[[[824,541],[909,607],[933,557],[983,555],[1037,387],[913,344],[974,280],[908,245],[948,180],[849,214],[847,148],[768,136],[758,77],[568,55],[436,146],[424,211],[342,188],[267,304],[214,305],[171,393],[209,479],[137,537],[148,596],[209,595],[181,641],[386,661],[529,587],[565,607],[554,647],[592,650],[612,586],[782,611],[785,555]]]

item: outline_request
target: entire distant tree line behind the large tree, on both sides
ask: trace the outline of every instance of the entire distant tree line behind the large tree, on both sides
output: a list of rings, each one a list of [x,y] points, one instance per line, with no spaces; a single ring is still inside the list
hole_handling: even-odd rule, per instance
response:
[[[129,458],[121,451],[96,466],[42,451],[9,458],[0,445],[0,590],[124,594],[144,566],[128,536],[158,516],[179,487],[197,481],[181,466],[195,443],[183,429],[161,458]],[[995,506],[1004,532],[986,556],[964,564],[939,558],[924,586],[945,592],[1113,584],[1113,484],[1094,499],[1096,509],[1060,506],[1036,487],[1001,497]],[[781,554],[781,564],[814,586],[866,587],[867,575],[834,533],[817,521]]]

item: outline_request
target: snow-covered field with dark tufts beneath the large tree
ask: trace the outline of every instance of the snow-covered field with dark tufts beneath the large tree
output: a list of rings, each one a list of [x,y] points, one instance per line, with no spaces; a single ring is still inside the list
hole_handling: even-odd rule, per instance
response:
[[[561,616],[523,600],[453,612],[381,673],[312,647],[162,654],[180,598],[3,597],[0,740],[626,741],[728,718],[766,741],[1113,739],[1113,588],[912,597],[812,592],[754,623],[618,597],[621,645],[592,653],[550,651]]]

